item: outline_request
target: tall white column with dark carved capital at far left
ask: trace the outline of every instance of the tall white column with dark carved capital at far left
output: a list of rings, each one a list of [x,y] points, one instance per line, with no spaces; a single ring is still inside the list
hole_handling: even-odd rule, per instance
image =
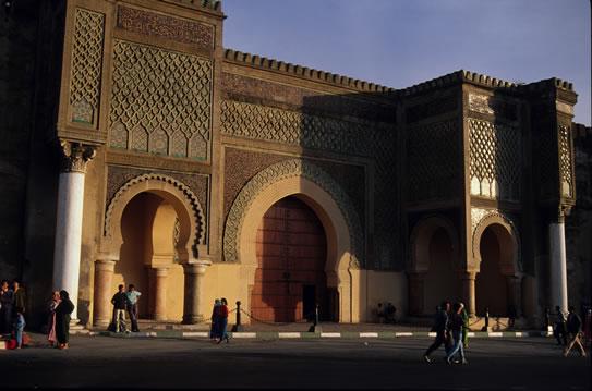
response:
[[[77,322],[78,278],[81,268],[84,175],[95,148],[61,142],[62,167],[58,185],[56,242],[53,247],[53,289],[65,290],[74,303],[71,317]]]

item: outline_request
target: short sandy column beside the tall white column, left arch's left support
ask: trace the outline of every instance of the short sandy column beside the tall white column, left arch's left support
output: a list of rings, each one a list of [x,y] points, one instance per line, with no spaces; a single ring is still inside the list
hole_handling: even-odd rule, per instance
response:
[[[109,259],[97,259],[95,261],[95,306],[94,325],[107,327],[111,321],[111,282],[116,261]]]

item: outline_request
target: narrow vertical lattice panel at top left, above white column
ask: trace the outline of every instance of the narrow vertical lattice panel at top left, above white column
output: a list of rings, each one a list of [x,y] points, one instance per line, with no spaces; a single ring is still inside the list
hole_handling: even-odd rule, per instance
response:
[[[76,9],[70,78],[72,122],[97,123],[104,30],[104,14]]]

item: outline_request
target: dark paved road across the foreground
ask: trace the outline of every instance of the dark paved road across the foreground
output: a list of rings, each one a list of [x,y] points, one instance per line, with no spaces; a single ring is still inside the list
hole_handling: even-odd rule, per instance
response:
[[[590,390],[590,358],[564,358],[552,338],[475,338],[468,365],[443,350],[424,363],[427,337],[207,339],[74,335],[59,351],[0,351],[11,388],[240,388]]]

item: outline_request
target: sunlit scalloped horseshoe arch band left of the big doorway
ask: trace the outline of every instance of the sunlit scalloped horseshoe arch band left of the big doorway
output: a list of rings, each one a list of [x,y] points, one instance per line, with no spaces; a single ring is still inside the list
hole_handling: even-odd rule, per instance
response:
[[[202,206],[191,188],[182,182],[159,173],[136,176],[123,184],[114,194],[105,215],[101,253],[112,254],[117,259],[119,247],[123,243],[121,218],[125,206],[140,193],[154,193],[167,200],[174,208],[180,222],[178,248],[179,259],[186,261],[197,257],[198,248],[205,245],[205,219]]]

